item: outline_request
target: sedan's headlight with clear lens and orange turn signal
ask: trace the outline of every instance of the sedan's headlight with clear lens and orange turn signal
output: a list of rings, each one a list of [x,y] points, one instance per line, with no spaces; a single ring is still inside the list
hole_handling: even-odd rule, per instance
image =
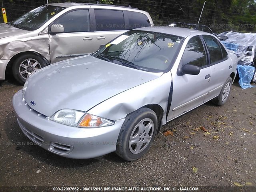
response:
[[[52,117],[50,117],[50,120],[74,127],[79,126],[83,128],[96,128],[114,124],[114,122],[110,120],[73,109],[59,110],[54,115],[52,115]],[[78,124],[78,122],[80,123]]]

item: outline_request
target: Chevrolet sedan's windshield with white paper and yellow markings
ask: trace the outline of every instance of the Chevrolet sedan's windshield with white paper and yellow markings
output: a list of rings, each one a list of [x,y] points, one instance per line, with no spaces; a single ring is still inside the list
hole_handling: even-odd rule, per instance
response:
[[[183,38],[140,30],[128,31],[93,56],[150,72],[164,72],[172,64]]]

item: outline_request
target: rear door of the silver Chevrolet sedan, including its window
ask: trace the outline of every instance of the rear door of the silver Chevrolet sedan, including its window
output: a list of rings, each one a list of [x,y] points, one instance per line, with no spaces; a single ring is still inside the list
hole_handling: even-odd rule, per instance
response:
[[[228,53],[219,40],[211,35],[203,35],[202,38],[210,55],[210,91],[206,101],[218,96],[228,76],[232,73],[232,65],[228,60]]]

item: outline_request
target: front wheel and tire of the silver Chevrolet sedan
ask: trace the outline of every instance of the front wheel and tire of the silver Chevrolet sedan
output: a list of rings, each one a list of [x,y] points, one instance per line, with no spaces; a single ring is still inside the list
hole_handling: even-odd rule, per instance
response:
[[[118,136],[116,154],[127,161],[141,158],[148,152],[151,143],[154,141],[157,125],[157,116],[149,108],[140,108],[126,116]],[[131,137],[135,137],[138,142],[133,142],[134,144],[130,146]],[[139,144],[142,143],[143,145],[140,146]]]

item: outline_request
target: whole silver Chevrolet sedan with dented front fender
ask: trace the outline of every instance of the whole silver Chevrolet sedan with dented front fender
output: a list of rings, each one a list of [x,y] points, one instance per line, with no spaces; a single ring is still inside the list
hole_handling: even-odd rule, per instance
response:
[[[162,125],[212,100],[227,102],[237,57],[212,34],[130,30],[97,52],[31,75],[13,97],[22,132],[68,158],[116,152],[133,161]]]

